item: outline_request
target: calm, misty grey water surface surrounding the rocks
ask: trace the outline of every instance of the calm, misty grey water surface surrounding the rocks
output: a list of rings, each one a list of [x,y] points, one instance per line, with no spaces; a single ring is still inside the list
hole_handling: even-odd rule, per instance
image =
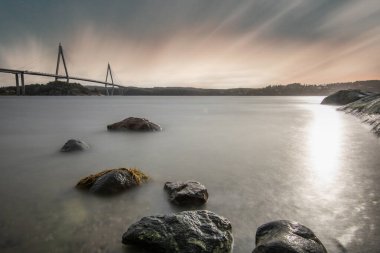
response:
[[[180,211],[169,180],[198,180],[203,207],[230,219],[234,252],[256,228],[290,219],[330,253],[380,249],[380,140],[321,97],[2,97],[0,251],[139,252],[121,244],[141,217]],[[129,116],[160,133],[110,133]],[[69,138],[91,150],[61,154]],[[76,182],[106,168],[138,167],[153,180],[100,198]]]

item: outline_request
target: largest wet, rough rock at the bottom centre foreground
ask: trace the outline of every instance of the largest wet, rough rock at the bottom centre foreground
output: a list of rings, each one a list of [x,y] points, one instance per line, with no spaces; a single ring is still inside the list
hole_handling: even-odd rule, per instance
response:
[[[144,217],[128,228],[122,242],[161,253],[229,253],[233,237],[226,218],[200,210]]]

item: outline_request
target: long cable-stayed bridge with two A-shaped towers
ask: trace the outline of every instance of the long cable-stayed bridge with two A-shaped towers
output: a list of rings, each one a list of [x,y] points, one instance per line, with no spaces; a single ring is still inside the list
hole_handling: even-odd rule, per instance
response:
[[[65,75],[59,74],[59,66],[60,66],[61,60],[63,63],[63,67],[65,69]],[[123,88],[126,88],[123,85],[114,83],[112,71],[111,71],[111,66],[109,63],[107,66],[107,74],[106,74],[105,81],[94,80],[94,79],[83,78],[83,77],[69,76],[69,73],[67,71],[65,56],[63,54],[63,48],[62,48],[61,44],[59,44],[59,47],[58,47],[58,58],[57,58],[57,67],[56,67],[55,74],[44,73],[44,72],[36,72],[36,71],[28,71],[28,70],[20,70],[20,69],[7,69],[7,68],[0,68],[0,73],[8,73],[8,74],[14,74],[15,75],[16,94],[17,95],[26,95],[26,93],[25,93],[25,75],[54,77],[56,81],[58,79],[66,79],[67,83],[70,80],[75,80],[75,81],[84,81],[84,82],[90,82],[90,83],[104,84],[104,87],[106,88],[106,95],[113,95],[115,87],[120,88],[121,91],[123,91]],[[108,81],[108,78],[110,78],[110,81]],[[111,87],[111,91],[108,90],[108,87]]]

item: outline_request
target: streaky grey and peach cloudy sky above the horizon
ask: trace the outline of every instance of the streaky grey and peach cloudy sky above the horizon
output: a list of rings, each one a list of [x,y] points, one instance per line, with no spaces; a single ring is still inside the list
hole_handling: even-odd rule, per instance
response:
[[[60,42],[69,75],[104,80],[109,62],[126,86],[373,80],[380,1],[1,0],[0,68],[54,73]]]

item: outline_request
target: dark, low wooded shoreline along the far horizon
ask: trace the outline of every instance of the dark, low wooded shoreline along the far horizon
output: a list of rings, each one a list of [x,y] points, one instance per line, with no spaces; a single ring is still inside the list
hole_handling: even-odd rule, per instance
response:
[[[115,88],[116,96],[327,96],[338,90],[360,89],[380,93],[380,80],[333,83],[324,85],[270,85],[264,88],[203,89],[192,87],[125,87]],[[50,82],[25,86],[27,96],[102,96],[107,91],[101,86],[83,86],[79,83]],[[108,88],[111,94],[112,88]],[[0,96],[15,96],[16,87],[0,88]]]

